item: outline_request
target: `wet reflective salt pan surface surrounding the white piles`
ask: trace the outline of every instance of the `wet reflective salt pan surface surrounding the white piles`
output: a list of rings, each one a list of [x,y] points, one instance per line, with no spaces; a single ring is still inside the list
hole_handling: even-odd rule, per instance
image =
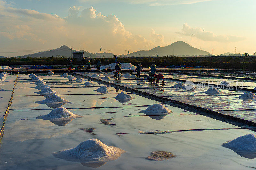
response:
[[[123,91],[113,87],[109,87],[112,91],[107,94],[100,94],[94,90],[103,84],[93,82],[93,86],[86,87],[83,83],[63,78],[61,74],[52,76],[39,74],[37,76],[42,78],[54,91],[59,92],[58,95],[71,102],[62,107],[84,117],[73,119],[70,122],[36,119],[39,115],[48,114],[52,108],[45,104],[34,103],[44,100],[45,97],[35,93],[39,90],[31,88],[36,85],[31,84],[33,82],[28,75],[21,74],[16,84],[1,142],[0,169],[89,169],[90,167],[84,166],[83,162],[58,159],[52,153],[76,147],[80,142],[90,138],[100,139],[104,144],[127,151],[117,160],[107,162],[99,169],[252,169],[250,167],[256,167],[253,159],[241,157],[231,149],[221,146],[228,140],[244,134],[255,133],[251,130],[236,129],[240,127],[172,107],[166,103],[163,104],[173,111],[171,114],[149,117],[139,113],[140,110],[160,102],[130,94],[135,99],[121,103],[113,97]],[[1,88],[12,89],[15,78],[15,76],[8,77],[12,84],[6,82],[6,85],[2,85]],[[209,107],[215,110],[235,109],[242,106],[243,108],[253,108],[255,106],[254,102],[241,104],[241,101],[235,98],[236,95],[244,93],[240,91],[225,90],[225,94],[220,96],[207,96],[202,93],[203,90],[186,92],[182,89],[172,88],[172,85],[178,83],[175,81],[166,81],[164,86],[150,85],[147,81],[138,83],[137,80],[129,78],[108,81],[175,100],[193,101],[192,103],[197,105],[199,101],[202,101],[204,103],[202,106],[207,107],[205,103],[209,103]],[[9,101],[11,91],[4,92],[0,91],[2,96]],[[222,98],[224,100],[220,100]],[[2,99],[1,101],[3,101],[1,109],[5,111],[8,101],[7,103],[4,103]],[[223,107],[228,102],[237,102],[237,105],[229,104],[227,107]],[[102,120],[107,120],[110,125]],[[84,128],[93,128],[93,130],[87,131]],[[212,130],[199,130],[209,128]],[[214,130],[217,128],[225,129]],[[139,133],[140,131],[157,130],[177,130],[177,132],[168,134]],[[118,136],[116,133],[126,134]],[[145,159],[152,151],[157,150],[172,152],[176,157],[164,161]]]

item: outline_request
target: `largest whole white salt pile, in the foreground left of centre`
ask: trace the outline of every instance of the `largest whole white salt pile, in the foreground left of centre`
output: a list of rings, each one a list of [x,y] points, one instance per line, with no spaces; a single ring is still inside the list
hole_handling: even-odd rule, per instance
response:
[[[81,142],[75,148],[64,149],[53,153],[53,155],[68,161],[103,163],[115,160],[125,152],[120,148],[107,146],[98,139],[89,139]]]

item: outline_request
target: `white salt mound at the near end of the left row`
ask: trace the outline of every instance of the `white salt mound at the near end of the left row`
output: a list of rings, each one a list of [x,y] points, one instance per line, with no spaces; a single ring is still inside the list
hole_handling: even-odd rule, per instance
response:
[[[73,114],[72,112],[68,111],[66,108],[59,107],[59,108],[52,110],[47,115],[40,115],[36,118],[44,119],[44,120],[60,121],[60,120],[75,119],[77,117],[83,117],[83,116]]]

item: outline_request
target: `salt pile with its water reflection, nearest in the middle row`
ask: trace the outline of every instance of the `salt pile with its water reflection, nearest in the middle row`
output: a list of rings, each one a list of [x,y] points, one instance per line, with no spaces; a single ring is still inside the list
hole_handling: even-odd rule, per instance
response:
[[[152,119],[163,119],[166,115],[172,113],[172,110],[169,110],[162,104],[153,104],[145,110],[141,110],[139,113],[145,113]]]

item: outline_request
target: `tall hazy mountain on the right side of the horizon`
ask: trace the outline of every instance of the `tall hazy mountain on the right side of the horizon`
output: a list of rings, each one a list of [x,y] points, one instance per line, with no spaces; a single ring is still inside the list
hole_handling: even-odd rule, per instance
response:
[[[207,51],[203,51],[197,48],[194,48],[190,46],[189,44],[183,42],[183,41],[177,41],[174,42],[171,45],[165,46],[165,47],[155,47],[151,50],[143,50],[143,51],[137,51],[134,53],[129,54],[129,56],[156,56],[156,53],[158,56],[165,56],[165,55],[208,55]],[[140,55],[139,55],[140,54]],[[123,55],[121,55],[123,56]],[[127,57],[127,55],[126,55]]]

